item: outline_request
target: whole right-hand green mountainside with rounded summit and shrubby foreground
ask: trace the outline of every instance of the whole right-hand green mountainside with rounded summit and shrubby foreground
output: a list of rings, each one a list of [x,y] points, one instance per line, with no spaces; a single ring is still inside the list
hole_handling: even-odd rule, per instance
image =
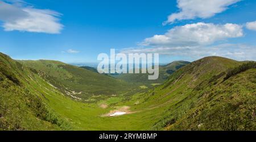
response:
[[[221,57],[192,62],[142,94],[143,107],[163,110],[152,129],[256,130],[255,74],[255,62]]]

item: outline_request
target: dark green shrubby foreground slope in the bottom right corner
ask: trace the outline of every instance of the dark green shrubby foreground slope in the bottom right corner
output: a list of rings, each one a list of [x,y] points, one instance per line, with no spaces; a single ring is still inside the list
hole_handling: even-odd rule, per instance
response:
[[[193,90],[191,110],[167,130],[256,130],[255,67]]]

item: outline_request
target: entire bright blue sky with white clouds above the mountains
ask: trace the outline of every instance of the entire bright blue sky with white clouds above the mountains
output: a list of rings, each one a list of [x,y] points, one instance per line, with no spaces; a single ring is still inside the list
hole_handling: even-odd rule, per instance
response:
[[[0,0],[0,52],[64,62],[96,62],[110,48],[160,53],[162,63],[256,60],[256,1],[214,1]]]

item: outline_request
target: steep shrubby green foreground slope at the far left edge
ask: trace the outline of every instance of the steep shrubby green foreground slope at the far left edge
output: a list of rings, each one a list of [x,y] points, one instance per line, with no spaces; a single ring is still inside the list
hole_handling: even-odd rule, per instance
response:
[[[43,94],[35,91],[38,86],[32,85],[34,75],[19,62],[0,53],[0,130],[69,129],[65,120],[43,102]],[[37,78],[39,82],[46,93],[55,93],[53,87]]]

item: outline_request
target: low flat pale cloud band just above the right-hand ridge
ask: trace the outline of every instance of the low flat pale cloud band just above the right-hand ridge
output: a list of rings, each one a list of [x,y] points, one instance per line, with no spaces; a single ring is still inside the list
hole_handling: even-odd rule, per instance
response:
[[[245,44],[219,44],[196,47],[155,47],[155,48],[126,48],[121,53],[159,53],[172,57],[186,57],[197,60],[206,56],[221,56],[234,60],[256,60],[256,47]]]

